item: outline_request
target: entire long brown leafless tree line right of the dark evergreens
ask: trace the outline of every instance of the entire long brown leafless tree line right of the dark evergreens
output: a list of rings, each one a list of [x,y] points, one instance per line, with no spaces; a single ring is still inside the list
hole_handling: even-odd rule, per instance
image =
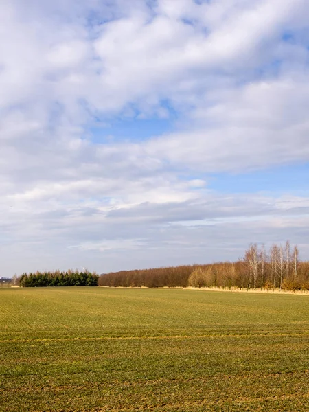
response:
[[[309,262],[301,262],[298,247],[288,241],[284,246],[273,244],[268,251],[263,245],[250,244],[237,262],[106,273],[100,276],[99,285],[309,290]]]

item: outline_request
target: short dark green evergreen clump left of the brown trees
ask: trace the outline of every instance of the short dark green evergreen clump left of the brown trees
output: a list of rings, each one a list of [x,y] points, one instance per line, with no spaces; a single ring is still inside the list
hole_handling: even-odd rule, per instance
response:
[[[19,286],[44,287],[44,286],[98,286],[99,276],[89,271],[66,272],[36,272],[23,273],[19,278]]]

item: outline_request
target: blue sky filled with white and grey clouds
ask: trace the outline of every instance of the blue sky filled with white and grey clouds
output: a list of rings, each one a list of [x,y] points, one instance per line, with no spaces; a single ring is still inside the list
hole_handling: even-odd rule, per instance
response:
[[[309,259],[308,0],[0,2],[0,276]]]

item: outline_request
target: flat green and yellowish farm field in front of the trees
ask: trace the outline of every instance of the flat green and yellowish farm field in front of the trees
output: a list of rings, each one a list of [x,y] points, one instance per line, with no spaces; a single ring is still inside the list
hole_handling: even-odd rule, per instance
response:
[[[0,289],[0,411],[309,411],[309,296]]]

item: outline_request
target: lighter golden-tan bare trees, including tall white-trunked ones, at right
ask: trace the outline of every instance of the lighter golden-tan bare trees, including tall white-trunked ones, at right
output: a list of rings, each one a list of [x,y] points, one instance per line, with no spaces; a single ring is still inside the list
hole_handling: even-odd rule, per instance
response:
[[[251,244],[238,262],[222,262],[192,271],[189,286],[246,288],[261,290],[309,290],[309,262],[299,260],[299,249],[287,241],[273,244],[267,251],[264,245]]]

